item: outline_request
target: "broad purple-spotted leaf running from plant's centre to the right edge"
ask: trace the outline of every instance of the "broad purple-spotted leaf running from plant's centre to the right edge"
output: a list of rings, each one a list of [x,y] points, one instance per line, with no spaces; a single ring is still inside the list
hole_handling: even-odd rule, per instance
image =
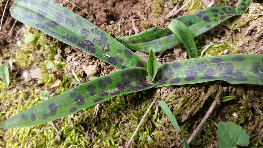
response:
[[[226,55],[169,62],[158,66],[156,87],[223,80],[263,85],[263,55]]]

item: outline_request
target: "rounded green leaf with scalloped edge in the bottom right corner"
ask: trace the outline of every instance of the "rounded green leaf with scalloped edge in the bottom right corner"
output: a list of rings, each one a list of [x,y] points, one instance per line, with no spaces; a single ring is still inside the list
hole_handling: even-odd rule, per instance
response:
[[[235,148],[236,145],[247,146],[249,144],[249,135],[241,126],[231,122],[219,122],[216,131],[219,140],[219,148]]]

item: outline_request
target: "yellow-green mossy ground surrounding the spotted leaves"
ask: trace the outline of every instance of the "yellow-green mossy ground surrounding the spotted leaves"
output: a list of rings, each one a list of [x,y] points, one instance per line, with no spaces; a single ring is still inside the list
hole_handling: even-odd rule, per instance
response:
[[[152,5],[153,7],[151,8],[154,13],[151,14],[153,14],[155,20],[160,16],[163,8],[161,2],[153,1],[155,5]],[[217,4],[218,6],[224,6],[227,2],[217,1]],[[203,6],[200,2],[194,0],[189,7],[183,9],[183,13],[191,14],[202,8]],[[216,29],[233,32],[233,34],[238,33],[240,29],[244,29],[246,25],[244,20],[246,19],[238,19],[236,21],[235,19],[223,22]],[[27,27],[27,29],[28,33],[36,34],[36,29],[31,27]],[[43,100],[40,99],[39,93],[44,90],[48,90],[49,95],[54,96],[74,86],[73,80],[70,80],[64,74],[67,71],[65,59],[55,60],[58,50],[65,48],[65,45],[56,42],[47,35],[25,44],[23,43],[23,38],[26,35],[20,33],[22,44],[14,46],[14,55],[10,53],[9,48],[3,48],[0,55],[1,63],[11,58],[17,70],[17,75],[13,75],[14,77],[11,78],[9,86],[4,85],[0,81],[0,124],[22,110],[42,102]],[[239,46],[237,46],[239,39],[231,40],[231,38],[234,38],[234,35],[229,36],[222,32],[215,34],[206,32],[204,35],[208,36],[210,41],[213,41],[214,37],[220,41],[215,42],[205,52],[205,56],[224,55],[226,49],[228,50],[227,54],[242,53]],[[206,46],[204,35],[195,38],[199,52]],[[48,61],[52,61],[55,64],[55,75],[42,73],[40,78],[29,78],[28,81],[25,81],[27,78],[25,74],[30,75],[32,69],[36,67],[47,71],[46,65]],[[57,79],[60,79],[61,82],[58,86],[53,87]],[[212,147],[216,145],[215,133],[217,124],[220,121],[227,120],[241,125],[249,135],[259,133],[259,136],[251,139],[249,147],[262,147],[263,91],[261,86],[229,85],[228,83],[217,81],[195,85],[163,87],[160,88],[160,95],[164,97],[164,100],[179,121],[181,131],[186,139],[190,137],[191,132],[208,110],[213,98],[219,99],[223,95],[236,96],[234,100],[222,103],[216,108],[190,147]],[[156,90],[151,89],[147,90],[147,92],[142,91],[111,98],[99,104],[99,110],[94,119],[95,108],[89,108],[53,121],[59,132],[52,127],[52,123],[9,130],[0,129],[0,146],[6,148],[47,146],[66,148],[73,145],[76,145],[75,147],[122,147],[130,140],[141,117],[154,97],[157,97]],[[134,137],[132,147],[179,147],[180,140],[178,139],[178,134],[176,134],[178,132],[173,128],[161,108],[159,107],[156,119],[153,121],[154,113],[155,107],[152,107],[139,128],[138,134]],[[234,117],[232,115],[234,113],[238,117]]]

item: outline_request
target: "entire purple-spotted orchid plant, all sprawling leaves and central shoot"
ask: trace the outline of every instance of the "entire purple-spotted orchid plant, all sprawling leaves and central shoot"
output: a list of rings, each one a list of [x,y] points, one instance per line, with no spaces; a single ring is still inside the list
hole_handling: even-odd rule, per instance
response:
[[[193,58],[197,57],[193,37],[208,31],[227,18],[244,13],[250,3],[250,0],[240,0],[237,9],[205,8],[198,13],[174,19],[169,27],[163,30],[151,28],[133,36],[117,37],[130,49],[150,52],[151,58],[146,66],[134,52],[74,12],[49,0],[33,1],[26,6],[22,1],[15,0],[10,9],[14,18],[121,70],[28,108],[6,120],[1,127],[9,129],[47,123],[93,107],[114,96],[153,87],[215,80],[231,84],[263,85],[262,55]],[[181,42],[188,49],[191,59],[157,66],[154,52],[166,50]],[[146,76],[152,83],[145,82]]]

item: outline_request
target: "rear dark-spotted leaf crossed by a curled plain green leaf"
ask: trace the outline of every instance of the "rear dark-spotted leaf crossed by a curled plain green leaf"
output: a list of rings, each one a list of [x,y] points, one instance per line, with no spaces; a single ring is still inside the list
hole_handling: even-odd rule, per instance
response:
[[[237,9],[232,7],[208,7],[191,15],[178,17],[188,27],[193,37],[210,30],[226,19],[239,16],[249,8],[251,0],[239,0]],[[116,38],[131,50],[149,53],[163,51],[179,45],[181,41],[169,28],[150,28],[132,36]]]

